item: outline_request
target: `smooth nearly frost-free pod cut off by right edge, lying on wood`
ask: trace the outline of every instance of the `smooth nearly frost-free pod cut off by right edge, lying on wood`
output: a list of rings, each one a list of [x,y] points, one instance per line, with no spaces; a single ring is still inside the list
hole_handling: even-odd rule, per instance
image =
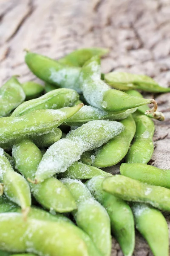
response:
[[[150,185],[170,189],[170,170],[159,169],[144,163],[122,163],[120,173]]]

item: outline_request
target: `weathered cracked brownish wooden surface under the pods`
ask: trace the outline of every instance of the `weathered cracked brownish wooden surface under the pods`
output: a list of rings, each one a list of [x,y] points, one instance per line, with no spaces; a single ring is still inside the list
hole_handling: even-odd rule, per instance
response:
[[[0,0],[0,84],[15,74],[35,79],[24,48],[60,58],[91,46],[111,50],[103,72],[144,73],[170,86],[170,0]],[[155,122],[150,164],[170,169],[170,93],[152,97],[166,120]],[[139,234],[134,255],[152,255]],[[112,256],[122,256],[114,239]]]

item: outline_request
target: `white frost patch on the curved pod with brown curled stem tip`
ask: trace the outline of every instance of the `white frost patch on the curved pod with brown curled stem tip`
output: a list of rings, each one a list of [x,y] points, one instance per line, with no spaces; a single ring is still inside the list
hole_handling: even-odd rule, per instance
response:
[[[83,95],[86,101],[96,107],[102,109],[104,93],[111,89],[104,81],[100,79],[85,80],[82,84]]]

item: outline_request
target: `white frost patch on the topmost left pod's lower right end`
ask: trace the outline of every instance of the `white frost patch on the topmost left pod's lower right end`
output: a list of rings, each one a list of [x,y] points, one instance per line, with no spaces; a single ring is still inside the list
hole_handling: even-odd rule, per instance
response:
[[[79,68],[69,67],[56,71],[55,68],[51,67],[50,72],[51,75],[49,79],[51,79],[51,81],[57,83],[60,87],[74,89],[77,90],[78,93],[81,93],[78,81],[80,74]]]

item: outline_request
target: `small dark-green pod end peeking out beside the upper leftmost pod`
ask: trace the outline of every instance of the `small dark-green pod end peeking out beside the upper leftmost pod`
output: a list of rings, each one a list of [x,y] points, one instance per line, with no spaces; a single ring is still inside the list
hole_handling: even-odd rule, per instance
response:
[[[26,94],[26,100],[39,97],[44,90],[44,86],[42,84],[37,84],[34,81],[25,82],[21,84],[21,86]]]

